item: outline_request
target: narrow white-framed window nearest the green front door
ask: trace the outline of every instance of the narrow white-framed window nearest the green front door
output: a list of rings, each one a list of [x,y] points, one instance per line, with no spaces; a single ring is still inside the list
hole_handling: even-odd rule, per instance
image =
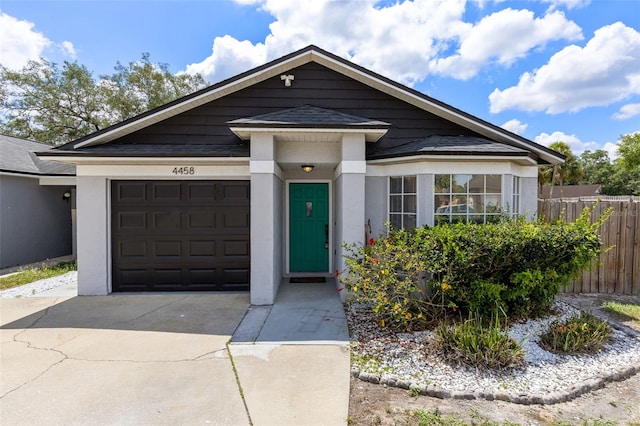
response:
[[[416,176],[389,178],[389,222],[394,229],[413,229],[417,223]]]

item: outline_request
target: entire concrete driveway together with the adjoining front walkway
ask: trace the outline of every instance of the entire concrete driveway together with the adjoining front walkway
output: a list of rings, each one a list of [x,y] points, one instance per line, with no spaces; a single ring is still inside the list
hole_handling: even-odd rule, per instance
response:
[[[346,424],[333,282],[283,283],[250,310],[248,294],[74,291],[0,299],[2,424]]]

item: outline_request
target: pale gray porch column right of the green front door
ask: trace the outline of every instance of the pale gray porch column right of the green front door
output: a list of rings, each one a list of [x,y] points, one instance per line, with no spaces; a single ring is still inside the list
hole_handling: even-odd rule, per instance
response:
[[[363,244],[365,226],[364,134],[342,137],[342,158],[336,168],[336,269],[343,271],[343,244]],[[342,294],[342,293],[341,293]]]

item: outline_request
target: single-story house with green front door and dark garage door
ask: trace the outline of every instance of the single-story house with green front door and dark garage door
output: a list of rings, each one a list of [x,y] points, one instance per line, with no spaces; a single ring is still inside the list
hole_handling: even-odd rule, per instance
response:
[[[40,155],[77,166],[79,294],[253,304],[386,221],[534,214],[564,158],[316,46]]]

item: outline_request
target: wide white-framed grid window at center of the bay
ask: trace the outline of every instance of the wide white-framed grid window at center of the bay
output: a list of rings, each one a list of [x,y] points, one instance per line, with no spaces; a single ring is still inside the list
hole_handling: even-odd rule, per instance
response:
[[[502,214],[502,175],[435,175],[434,219],[441,222],[497,221]]]

